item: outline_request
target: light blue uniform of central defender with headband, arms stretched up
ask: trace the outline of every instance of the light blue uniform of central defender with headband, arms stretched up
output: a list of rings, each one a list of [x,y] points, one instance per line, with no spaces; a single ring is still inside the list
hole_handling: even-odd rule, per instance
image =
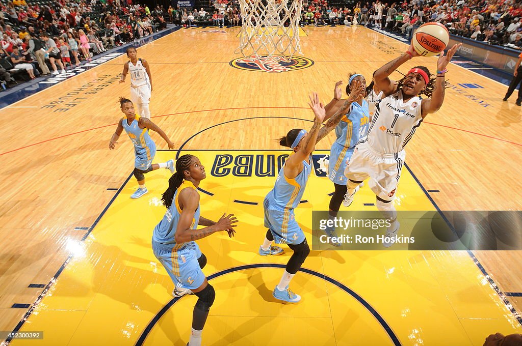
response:
[[[278,244],[296,245],[306,239],[295,220],[293,209],[301,202],[306,182],[312,172],[312,156],[309,157],[309,161],[310,163],[307,163],[303,160],[303,170],[293,179],[284,176],[283,165],[277,175],[274,189],[268,192],[263,202],[265,227],[270,230]]]

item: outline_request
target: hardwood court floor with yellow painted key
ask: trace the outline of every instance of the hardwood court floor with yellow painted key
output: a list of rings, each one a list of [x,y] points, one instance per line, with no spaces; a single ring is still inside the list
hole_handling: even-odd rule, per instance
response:
[[[238,30],[180,30],[138,49],[152,69],[153,121],[177,147],[201,130],[238,120],[196,135],[186,142],[184,151],[279,150],[274,138],[290,128],[308,126],[299,119],[312,119],[307,94],[317,91],[322,100],[329,101],[335,81],[346,82],[350,71],[369,79],[376,68],[406,47],[364,28],[305,28],[302,56],[314,61],[312,67],[283,73],[245,71],[229,64],[237,57],[232,52],[238,45]],[[82,337],[102,340],[105,336],[114,344],[123,338],[126,344],[134,344],[152,316],[170,300],[172,285],[163,269],[156,268],[148,245],[151,229],[162,214],[161,207],[149,203],[163,191],[167,175],[160,171],[147,175],[150,193],[146,199],[128,199],[135,187],[132,178],[121,193],[107,190],[122,186],[133,162],[132,143],[125,135],[115,151],[108,149],[121,117],[117,96],[129,94],[128,81],[117,84],[124,61],[125,56],[111,60],[14,105],[36,108],[2,110],[10,131],[4,133],[0,152],[0,174],[5,182],[5,192],[0,195],[0,330],[13,329],[26,312],[11,308],[13,304],[32,304],[43,290],[28,286],[49,283],[70,254],[76,256],[52,286],[52,295],[43,298],[22,327],[41,327],[48,332],[45,343],[80,344]],[[435,61],[417,58],[400,71],[404,73],[413,65],[434,70]],[[393,77],[399,79],[400,75],[394,73]],[[426,118],[408,144],[408,166],[424,189],[439,191],[430,197],[442,210],[520,210],[521,174],[513,164],[522,145],[518,137],[522,130],[520,107],[500,101],[503,85],[471,71],[451,65],[447,77],[452,85],[446,91],[445,104],[439,113]],[[483,88],[458,85],[465,83]],[[67,94],[78,89],[75,96],[85,98],[70,102]],[[159,148],[166,148],[158,135],[152,136]],[[330,135],[319,143],[317,149],[329,149],[332,138]],[[159,152],[156,162],[174,155]],[[201,155],[212,161],[208,155],[215,154],[207,151]],[[410,199],[401,201],[411,206],[412,199],[418,198],[426,208],[433,208],[428,197],[419,192],[419,184],[415,187],[406,179],[402,178],[400,188]],[[408,179],[417,183],[412,176]],[[228,187],[213,177],[205,181],[208,191],[212,191],[210,187],[228,187],[238,195],[246,194],[249,199],[243,198],[247,201],[262,199],[272,183],[270,178],[255,185],[243,181],[238,190],[235,182]],[[327,197],[316,200],[310,191],[307,200],[311,206],[325,208]],[[358,196],[360,203],[363,196],[367,197],[364,202],[373,202],[366,192]],[[98,226],[85,242],[78,243],[116,193]],[[255,251],[264,232],[260,209],[234,203],[234,198],[242,197],[229,193],[228,199],[220,197],[216,205],[202,196],[202,201],[208,202],[202,209],[208,208],[211,217],[217,217],[219,208],[239,210],[245,220],[234,241],[216,236],[201,242],[209,257],[205,273],[243,264],[285,263],[288,255],[259,260]],[[311,206],[303,205],[303,215]],[[305,225],[306,218],[301,223]],[[520,252],[476,255],[502,292],[522,291]],[[520,332],[513,314],[465,252],[330,252],[312,256],[305,267],[360,294],[390,328],[378,324],[363,305],[345,298],[346,292],[311,274],[296,277],[295,290],[304,296],[301,304],[271,302],[267,292],[281,269],[249,268],[214,279],[218,300],[205,330],[209,344],[258,344],[269,330],[288,327],[307,330],[303,340],[318,344],[346,344],[342,342],[353,336],[353,330],[364,331],[361,337],[372,335],[375,339],[368,344],[391,344],[389,330],[401,344],[419,340],[440,343],[450,335],[466,345],[482,344],[491,332]],[[392,268],[397,275],[388,273]],[[244,306],[239,306],[242,300]],[[509,297],[509,301],[520,311],[520,298]],[[193,302],[193,297],[183,298],[171,307],[159,320],[161,328],[152,328],[146,342],[168,338],[181,344],[179,338],[188,336],[189,322],[177,312],[188,317]],[[232,307],[239,309],[237,313]],[[114,323],[104,317],[112,316],[106,310],[118,313]],[[216,317],[224,315],[229,317]],[[274,322],[276,315],[281,319]],[[64,330],[65,321],[75,327]],[[59,334],[53,332],[57,325],[61,326]],[[252,326],[259,326],[259,330],[252,332]],[[100,332],[93,335],[96,328]],[[331,339],[333,332],[335,339]],[[275,344],[275,340],[268,344]],[[357,343],[358,339],[351,340]],[[25,343],[30,342],[14,342]]]

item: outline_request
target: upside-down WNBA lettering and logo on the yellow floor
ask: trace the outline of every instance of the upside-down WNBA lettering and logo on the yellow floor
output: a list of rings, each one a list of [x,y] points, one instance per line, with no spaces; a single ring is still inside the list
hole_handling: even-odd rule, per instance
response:
[[[319,151],[320,152],[320,151]],[[325,151],[326,152],[326,151]],[[195,153],[198,156],[198,153]],[[213,177],[276,177],[289,154],[285,151],[280,152],[248,152],[241,151],[223,154],[214,154],[210,175]],[[327,177],[328,175],[328,154],[313,154],[312,164],[317,177]],[[210,164],[210,157],[205,158],[206,163]]]

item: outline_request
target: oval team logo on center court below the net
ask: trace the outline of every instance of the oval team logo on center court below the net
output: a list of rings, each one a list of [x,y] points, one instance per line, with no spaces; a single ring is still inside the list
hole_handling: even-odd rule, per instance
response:
[[[268,55],[260,55],[259,58],[251,56],[247,58],[238,58],[230,61],[230,66],[242,70],[264,71],[271,73],[280,73],[286,71],[300,70],[314,65],[314,61],[302,56],[293,56],[290,61],[277,61],[269,58]]]

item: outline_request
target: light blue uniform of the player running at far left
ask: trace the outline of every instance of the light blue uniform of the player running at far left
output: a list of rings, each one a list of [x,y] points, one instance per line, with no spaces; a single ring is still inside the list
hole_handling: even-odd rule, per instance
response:
[[[136,114],[135,117],[131,125],[128,124],[127,117],[124,117],[122,126],[134,144],[134,154],[136,155],[134,167],[146,170],[150,167],[152,159],[156,155],[156,143],[150,138],[148,128],[139,128],[138,121],[140,116]]]

